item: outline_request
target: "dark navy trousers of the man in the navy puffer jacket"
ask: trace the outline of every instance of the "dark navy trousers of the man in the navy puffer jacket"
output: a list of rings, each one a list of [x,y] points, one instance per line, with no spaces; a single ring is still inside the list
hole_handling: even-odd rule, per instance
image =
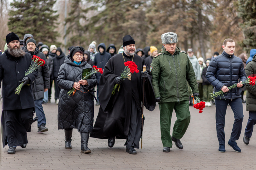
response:
[[[230,135],[230,140],[236,141],[239,139],[242,131],[242,123],[244,119],[243,114],[243,103],[241,98],[234,100],[215,100],[216,107],[216,130],[219,144],[225,145],[225,116],[228,104],[230,105],[232,111],[234,112],[234,124]]]

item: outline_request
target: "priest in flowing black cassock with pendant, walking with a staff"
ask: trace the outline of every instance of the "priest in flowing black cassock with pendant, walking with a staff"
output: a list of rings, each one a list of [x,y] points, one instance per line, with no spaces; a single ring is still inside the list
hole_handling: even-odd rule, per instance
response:
[[[147,66],[143,72],[144,59],[135,53],[135,41],[130,35],[123,38],[124,52],[110,58],[100,77],[100,110],[90,137],[108,139],[108,146],[115,144],[115,138],[126,139],[126,152],[136,154],[141,137],[142,89],[145,78],[144,106],[153,111],[156,107],[155,94],[151,84],[151,73]],[[133,73],[131,80],[121,79],[124,62],[133,61],[139,73]],[[116,84],[119,92],[111,96]],[[118,88],[117,88],[118,89]]]

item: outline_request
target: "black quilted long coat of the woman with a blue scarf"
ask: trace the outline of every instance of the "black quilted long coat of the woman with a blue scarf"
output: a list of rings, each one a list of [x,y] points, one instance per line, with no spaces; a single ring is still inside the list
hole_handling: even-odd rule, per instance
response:
[[[82,70],[92,67],[86,61],[77,65],[70,60],[69,55],[60,67],[57,83],[61,88],[58,108],[58,129],[76,128],[79,132],[92,132],[94,102],[92,92],[87,92],[85,87],[91,89],[97,85],[95,75],[87,79],[88,85],[81,85],[73,96],[68,96],[68,91],[73,88],[74,82],[82,78]],[[86,92],[86,93],[83,93]]]

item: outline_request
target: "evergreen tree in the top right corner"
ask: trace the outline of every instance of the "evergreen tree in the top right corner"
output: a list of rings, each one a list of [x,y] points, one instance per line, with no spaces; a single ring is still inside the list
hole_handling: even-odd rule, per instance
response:
[[[243,40],[244,49],[249,52],[256,47],[256,0],[239,0],[239,16],[244,23],[243,28],[245,39]]]

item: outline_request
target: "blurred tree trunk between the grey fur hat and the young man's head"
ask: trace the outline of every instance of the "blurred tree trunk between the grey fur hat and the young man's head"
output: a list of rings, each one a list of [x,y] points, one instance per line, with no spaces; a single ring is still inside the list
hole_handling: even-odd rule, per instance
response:
[[[198,7],[198,39],[201,50],[201,55],[205,60],[205,49],[204,49],[204,34],[203,34],[203,16],[202,10]]]

